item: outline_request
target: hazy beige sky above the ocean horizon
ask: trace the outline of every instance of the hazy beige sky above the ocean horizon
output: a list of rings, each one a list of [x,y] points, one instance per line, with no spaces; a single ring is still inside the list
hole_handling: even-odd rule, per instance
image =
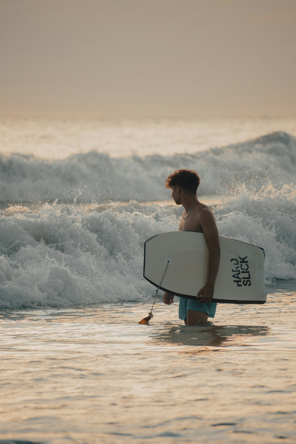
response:
[[[0,114],[296,115],[296,0],[0,0]]]

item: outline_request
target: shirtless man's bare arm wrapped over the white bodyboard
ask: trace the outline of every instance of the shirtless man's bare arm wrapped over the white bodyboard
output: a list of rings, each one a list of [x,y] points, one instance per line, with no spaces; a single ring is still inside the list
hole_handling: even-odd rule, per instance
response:
[[[205,208],[199,214],[199,221],[205,235],[205,242],[209,249],[209,276],[208,281],[197,293],[201,297],[199,302],[210,302],[213,298],[214,286],[220,262],[219,233],[212,211]]]

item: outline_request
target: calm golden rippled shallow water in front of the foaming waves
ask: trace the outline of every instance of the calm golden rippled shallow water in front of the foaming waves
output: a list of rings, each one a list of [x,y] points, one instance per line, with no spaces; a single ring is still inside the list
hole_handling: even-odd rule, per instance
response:
[[[150,303],[0,313],[2,440],[295,443],[295,281],[185,327]],[[1,442],[1,441],[0,441]]]

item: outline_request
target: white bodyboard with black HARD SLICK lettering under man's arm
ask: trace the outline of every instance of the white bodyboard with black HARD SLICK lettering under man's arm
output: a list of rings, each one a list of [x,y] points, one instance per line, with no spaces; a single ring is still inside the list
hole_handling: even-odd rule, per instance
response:
[[[264,304],[266,290],[263,248],[220,236],[221,258],[213,302]],[[177,296],[196,299],[206,284],[209,250],[203,233],[168,231],[145,242],[144,277],[160,289]]]

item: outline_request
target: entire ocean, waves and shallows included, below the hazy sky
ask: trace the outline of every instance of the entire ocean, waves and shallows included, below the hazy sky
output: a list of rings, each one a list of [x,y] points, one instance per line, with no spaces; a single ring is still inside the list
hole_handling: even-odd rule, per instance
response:
[[[2,121],[0,443],[295,442],[296,131],[280,122]],[[221,235],[264,247],[267,302],[187,328],[159,296],[138,325],[178,168],[199,172]]]

